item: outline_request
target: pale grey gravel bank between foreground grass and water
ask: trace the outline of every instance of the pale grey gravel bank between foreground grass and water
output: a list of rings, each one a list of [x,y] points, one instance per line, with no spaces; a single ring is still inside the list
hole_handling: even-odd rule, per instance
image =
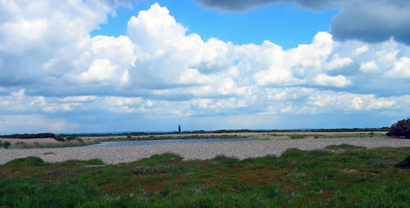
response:
[[[281,155],[288,148],[315,150],[326,146],[351,144],[366,148],[377,147],[410,147],[410,139],[372,138],[338,138],[338,139],[293,139],[268,141],[230,141],[196,144],[163,144],[149,146],[115,146],[115,147],[73,147],[5,150],[0,149],[0,164],[10,160],[35,156],[45,162],[63,162],[70,159],[88,160],[99,158],[106,164],[133,162],[155,154],[177,153],[184,159],[211,159],[218,155],[245,159],[266,155]]]

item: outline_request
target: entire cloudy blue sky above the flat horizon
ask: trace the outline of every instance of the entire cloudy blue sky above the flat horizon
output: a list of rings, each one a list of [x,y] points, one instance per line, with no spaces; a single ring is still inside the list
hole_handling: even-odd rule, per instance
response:
[[[0,0],[0,134],[377,128],[407,0]]]

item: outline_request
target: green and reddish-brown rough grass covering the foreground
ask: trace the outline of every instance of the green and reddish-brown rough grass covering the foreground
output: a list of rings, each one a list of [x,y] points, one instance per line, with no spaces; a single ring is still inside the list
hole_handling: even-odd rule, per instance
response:
[[[287,150],[281,157],[0,166],[0,207],[410,207],[410,148]]]

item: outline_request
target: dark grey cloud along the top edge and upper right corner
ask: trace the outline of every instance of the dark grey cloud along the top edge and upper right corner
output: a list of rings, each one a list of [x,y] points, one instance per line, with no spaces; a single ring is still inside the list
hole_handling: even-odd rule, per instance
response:
[[[310,10],[340,8],[331,20],[330,33],[336,40],[360,40],[384,42],[391,37],[397,42],[410,45],[410,1],[407,0],[195,0],[205,8],[229,12],[244,12],[252,8],[274,3],[295,3]]]

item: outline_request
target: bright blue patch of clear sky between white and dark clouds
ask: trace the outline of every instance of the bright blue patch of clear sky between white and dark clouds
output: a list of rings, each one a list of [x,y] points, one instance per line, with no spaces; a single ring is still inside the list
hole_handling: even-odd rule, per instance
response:
[[[337,14],[337,8],[315,12],[304,10],[294,3],[277,3],[240,12],[223,12],[204,9],[190,0],[142,1],[120,5],[116,16],[108,15],[106,24],[90,34],[118,37],[126,35],[126,24],[131,16],[140,10],[147,10],[158,2],[170,10],[170,15],[189,33],[196,33],[204,40],[216,37],[233,44],[261,44],[270,40],[284,49],[298,44],[309,44],[318,31],[329,31],[330,21]]]

